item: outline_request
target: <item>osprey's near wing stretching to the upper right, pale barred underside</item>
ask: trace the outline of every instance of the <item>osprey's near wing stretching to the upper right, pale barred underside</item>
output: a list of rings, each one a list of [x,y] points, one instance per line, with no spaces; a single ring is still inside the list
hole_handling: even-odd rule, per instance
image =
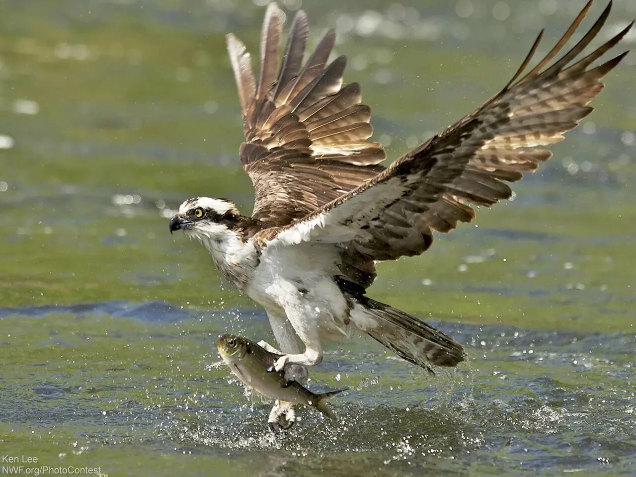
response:
[[[263,231],[261,237],[286,244],[341,244],[343,258],[355,253],[366,260],[396,259],[424,252],[434,230],[448,232],[458,222],[471,221],[474,211],[469,204],[490,206],[509,198],[506,182],[521,179],[523,172],[534,171],[550,158],[550,151],[540,146],[561,141],[564,132],[590,113],[587,104],[602,90],[601,79],[626,55],[588,69],[631,24],[577,60],[607,19],[610,3],[590,31],[548,66],[590,6],[591,1],[550,53],[522,77],[542,31],[513,79],[474,113],[363,186],[276,233]]]

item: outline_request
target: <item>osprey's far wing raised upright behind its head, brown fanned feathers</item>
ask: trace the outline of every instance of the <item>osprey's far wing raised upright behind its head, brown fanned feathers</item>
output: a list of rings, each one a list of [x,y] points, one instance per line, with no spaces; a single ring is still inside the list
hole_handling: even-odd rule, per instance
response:
[[[232,34],[228,52],[239,89],[246,141],[240,159],[255,190],[254,218],[281,226],[328,204],[384,170],[385,153],[367,141],[371,111],[356,83],[342,88],[345,57],[326,66],[329,30],[301,67],[307,15],[299,11],[279,69],[282,12],[266,11],[258,86],[249,53]]]

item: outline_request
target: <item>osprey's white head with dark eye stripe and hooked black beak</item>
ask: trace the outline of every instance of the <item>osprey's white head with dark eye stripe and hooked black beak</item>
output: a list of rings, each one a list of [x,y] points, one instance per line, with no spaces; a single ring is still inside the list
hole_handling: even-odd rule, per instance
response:
[[[170,219],[170,233],[183,230],[201,240],[224,241],[235,237],[241,214],[236,205],[222,198],[196,197],[186,200]]]

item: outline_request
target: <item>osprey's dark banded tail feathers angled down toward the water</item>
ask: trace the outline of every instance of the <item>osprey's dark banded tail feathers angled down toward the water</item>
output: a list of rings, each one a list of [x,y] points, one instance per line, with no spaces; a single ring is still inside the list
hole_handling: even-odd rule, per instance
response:
[[[355,290],[341,289],[349,301],[350,317],[357,328],[410,363],[434,374],[435,366],[456,366],[466,353],[450,336],[417,318]]]

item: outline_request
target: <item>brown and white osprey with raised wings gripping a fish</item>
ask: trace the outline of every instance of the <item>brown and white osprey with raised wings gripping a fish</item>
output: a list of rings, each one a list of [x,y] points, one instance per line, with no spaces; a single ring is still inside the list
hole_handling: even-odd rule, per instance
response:
[[[368,139],[371,113],[359,85],[343,86],[345,57],[327,62],[333,29],[303,66],[308,27],[299,11],[280,64],[284,15],[270,4],[258,81],[245,46],[228,35],[244,120],[240,161],[254,185],[254,211],[245,216],[229,200],[192,198],[170,220],[170,232],[184,230],[200,240],[221,273],[265,308],[282,352],[259,344],[282,354],[275,370],[321,363],[323,341],[353,329],[430,372],[464,360],[452,338],[368,298],[365,290],[375,279],[376,262],[421,254],[433,232],[471,221],[471,204],[511,197],[507,183],[550,158],[542,146],[561,141],[590,114],[601,79],[626,52],[591,64],[632,26],[580,57],[605,23],[610,3],[553,62],[591,3],[530,71],[523,74],[543,31],[501,92],[386,168],[380,165],[382,146]],[[270,423],[291,425],[293,418],[291,406],[277,403]]]

